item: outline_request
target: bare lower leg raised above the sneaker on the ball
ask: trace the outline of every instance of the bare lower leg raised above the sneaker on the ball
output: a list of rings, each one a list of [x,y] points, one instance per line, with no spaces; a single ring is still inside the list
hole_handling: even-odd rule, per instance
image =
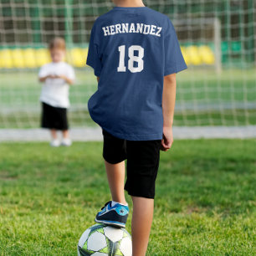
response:
[[[125,201],[125,161],[111,164],[105,161],[105,170],[108,177],[112,200],[126,204]]]

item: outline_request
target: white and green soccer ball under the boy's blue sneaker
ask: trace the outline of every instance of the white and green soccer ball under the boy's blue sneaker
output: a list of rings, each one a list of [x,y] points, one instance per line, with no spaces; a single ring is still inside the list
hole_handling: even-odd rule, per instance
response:
[[[131,235],[125,228],[95,224],[79,239],[78,256],[131,256]]]

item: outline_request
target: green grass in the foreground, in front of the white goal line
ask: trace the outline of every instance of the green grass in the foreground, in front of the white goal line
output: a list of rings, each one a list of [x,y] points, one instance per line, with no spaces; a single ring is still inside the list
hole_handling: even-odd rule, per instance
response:
[[[161,151],[148,256],[255,255],[255,145],[184,140]],[[110,199],[102,142],[4,143],[0,157],[0,255],[76,255]]]

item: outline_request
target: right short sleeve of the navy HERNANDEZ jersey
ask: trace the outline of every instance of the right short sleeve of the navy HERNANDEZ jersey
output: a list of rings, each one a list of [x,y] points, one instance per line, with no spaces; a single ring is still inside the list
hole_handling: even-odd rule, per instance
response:
[[[165,68],[164,75],[178,73],[187,69],[187,64],[182,56],[182,51],[177,39],[177,34],[173,28],[171,20],[168,18],[168,28],[164,39],[165,47]]]

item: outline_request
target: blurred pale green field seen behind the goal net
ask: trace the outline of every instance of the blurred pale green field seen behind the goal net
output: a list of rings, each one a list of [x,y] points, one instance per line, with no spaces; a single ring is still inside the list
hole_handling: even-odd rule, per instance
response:
[[[76,70],[70,90],[70,124],[94,125],[87,102],[96,88],[92,69]],[[38,127],[38,70],[1,73],[0,128]],[[255,69],[187,69],[177,75],[175,125],[255,125]]]

